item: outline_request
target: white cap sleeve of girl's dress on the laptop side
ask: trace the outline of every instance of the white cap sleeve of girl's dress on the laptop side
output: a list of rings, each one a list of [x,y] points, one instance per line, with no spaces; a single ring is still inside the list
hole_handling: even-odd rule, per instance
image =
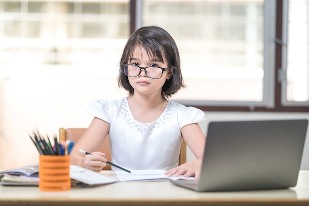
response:
[[[180,128],[188,124],[200,123],[206,121],[205,113],[195,107],[187,107],[184,112],[182,121],[180,122]]]

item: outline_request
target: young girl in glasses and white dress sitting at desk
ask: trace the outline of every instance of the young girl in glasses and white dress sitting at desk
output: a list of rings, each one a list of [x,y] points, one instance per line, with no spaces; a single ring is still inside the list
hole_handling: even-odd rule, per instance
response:
[[[177,45],[164,29],[147,26],[132,34],[120,60],[118,85],[129,96],[90,104],[87,112],[94,119],[71,153],[72,164],[100,172],[108,160],[104,151],[93,151],[109,134],[116,165],[199,178],[206,137],[197,123],[206,119],[199,109],[167,100],[184,83]],[[196,160],[178,166],[182,138]],[[92,155],[81,154],[80,148]]]

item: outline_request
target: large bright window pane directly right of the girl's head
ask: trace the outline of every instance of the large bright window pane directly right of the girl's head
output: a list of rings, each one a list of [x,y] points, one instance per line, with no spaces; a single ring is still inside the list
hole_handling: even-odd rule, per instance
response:
[[[173,99],[270,107],[273,59],[264,56],[273,50],[274,43],[265,42],[274,31],[265,32],[264,25],[274,22],[268,9],[273,5],[263,0],[144,0],[142,25],[165,28],[180,49],[187,88]]]

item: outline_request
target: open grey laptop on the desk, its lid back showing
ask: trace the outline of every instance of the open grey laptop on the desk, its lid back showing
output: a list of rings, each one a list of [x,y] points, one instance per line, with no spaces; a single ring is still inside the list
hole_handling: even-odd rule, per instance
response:
[[[200,178],[172,180],[195,191],[294,187],[308,120],[210,122]]]

